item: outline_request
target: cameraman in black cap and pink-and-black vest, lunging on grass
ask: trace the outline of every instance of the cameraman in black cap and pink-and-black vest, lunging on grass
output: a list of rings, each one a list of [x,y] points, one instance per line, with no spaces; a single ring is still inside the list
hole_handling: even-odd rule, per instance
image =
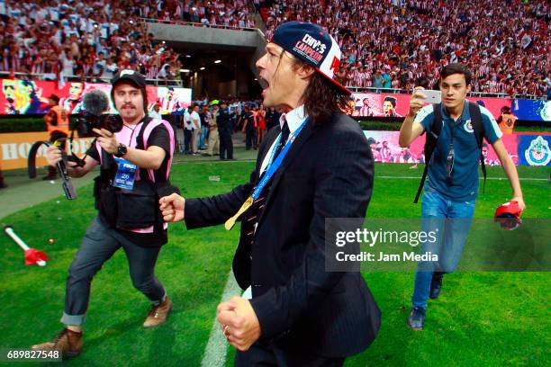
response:
[[[94,190],[99,214],[88,228],[68,270],[61,318],[65,328],[53,342],[32,347],[59,350],[64,357],[81,352],[90,283],[121,247],[128,258],[132,284],[151,302],[143,326],[156,327],[164,323],[172,309],[172,302],[155,277],[154,269],[161,246],[167,243],[167,223],[162,221],[156,202],[169,186],[174,132],[167,121],[147,116],[145,76],[122,70],[114,76],[112,85],[111,97],[122,117],[122,130],[113,133],[94,129],[98,138],[87,150],[84,166],[68,162],[68,173],[73,177],[86,175],[100,163],[102,169],[95,179]],[[114,163],[115,157],[123,158],[117,159],[118,165]],[[47,158],[50,166],[55,166],[61,152],[50,147]],[[126,190],[114,185],[124,186]]]

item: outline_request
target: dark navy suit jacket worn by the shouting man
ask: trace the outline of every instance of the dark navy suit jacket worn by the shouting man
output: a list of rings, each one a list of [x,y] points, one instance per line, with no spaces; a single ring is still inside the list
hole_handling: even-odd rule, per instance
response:
[[[279,132],[266,135],[248,183],[185,201],[187,228],[221,224],[239,210]],[[252,286],[261,343],[345,357],[375,339],[381,313],[361,274],[325,269],[325,219],[365,218],[373,178],[371,149],[348,116],[308,122],[295,139],[272,178],[252,246],[241,231],[233,259],[239,286]]]

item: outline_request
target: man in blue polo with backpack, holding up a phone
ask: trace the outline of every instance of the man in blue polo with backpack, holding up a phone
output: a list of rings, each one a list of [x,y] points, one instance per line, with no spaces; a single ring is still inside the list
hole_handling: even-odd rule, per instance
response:
[[[438,262],[420,262],[415,273],[408,318],[413,330],[423,328],[427,300],[438,298],[444,273],[454,271],[461,257],[478,196],[478,166],[483,163],[484,138],[492,144],[509,178],[512,200],[518,201],[521,210],[525,209],[519,175],[501,141],[497,122],[491,112],[465,99],[471,90],[469,70],[461,64],[447,65],[440,73],[439,87],[442,102],[425,107],[423,88],[415,88],[410,111],[400,129],[401,147],[408,147],[427,132],[427,166],[415,202],[425,178],[429,177],[421,204],[421,227],[427,232],[436,230],[438,237],[443,238],[437,238],[434,243],[424,242],[421,253],[445,255],[439,256]],[[485,167],[482,167],[485,183]]]

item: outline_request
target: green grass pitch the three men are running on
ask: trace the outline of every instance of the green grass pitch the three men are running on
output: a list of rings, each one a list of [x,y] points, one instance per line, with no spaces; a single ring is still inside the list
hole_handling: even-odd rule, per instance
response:
[[[254,162],[179,163],[172,182],[186,197],[212,195],[243,183]],[[412,204],[420,176],[405,165],[375,167],[374,194],[367,211],[373,218],[415,218]],[[210,181],[218,175],[220,181]],[[524,218],[550,218],[548,167],[519,167],[528,210]],[[490,167],[489,177],[504,177]],[[538,180],[533,180],[538,179]],[[2,219],[32,247],[50,256],[46,267],[24,266],[23,254],[0,237],[0,348],[22,348],[49,340],[61,328],[65,281],[81,237],[95,217],[91,186],[78,190],[77,201],[61,197],[20,210]],[[61,191],[59,191],[61,194]],[[491,218],[510,199],[507,180],[489,180],[479,197],[476,218]],[[24,198],[22,198],[24,200]],[[144,329],[148,301],[131,286],[122,251],[104,264],[92,283],[83,354],[75,366],[197,366],[216,306],[227,281],[239,230],[170,226],[170,241],[160,253],[157,276],[174,300],[168,323]],[[49,238],[55,240],[48,242]],[[442,295],[429,301],[425,330],[405,324],[410,309],[413,273],[363,273],[383,311],[375,343],[347,366],[503,366],[549,365],[551,314],[549,273],[455,273],[445,278]],[[226,365],[234,351],[228,347]],[[23,365],[18,363],[18,365]]]

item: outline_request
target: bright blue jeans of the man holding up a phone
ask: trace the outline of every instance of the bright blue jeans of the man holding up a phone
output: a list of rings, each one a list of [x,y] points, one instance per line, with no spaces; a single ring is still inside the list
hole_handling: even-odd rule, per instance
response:
[[[421,244],[421,254],[438,255],[438,262],[421,261],[415,273],[413,307],[427,309],[432,273],[456,270],[474,214],[473,201],[450,201],[435,191],[425,191],[421,203],[421,230],[436,232],[436,241]],[[442,233],[444,232],[444,233]],[[444,240],[442,242],[442,237]]]

